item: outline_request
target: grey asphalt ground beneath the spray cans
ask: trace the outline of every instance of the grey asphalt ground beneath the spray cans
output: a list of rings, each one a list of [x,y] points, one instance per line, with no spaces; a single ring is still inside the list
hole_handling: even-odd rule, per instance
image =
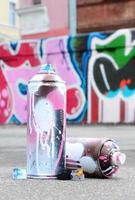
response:
[[[26,168],[26,126],[0,126],[0,200],[135,200],[135,126],[68,126],[67,136],[116,140],[127,160],[113,179],[13,180]]]

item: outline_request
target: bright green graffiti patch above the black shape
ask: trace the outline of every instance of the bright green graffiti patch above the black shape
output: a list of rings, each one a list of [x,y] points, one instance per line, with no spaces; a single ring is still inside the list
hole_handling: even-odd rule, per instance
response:
[[[118,68],[122,69],[133,57],[135,57],[135,48],[131,46],[126,46],[126,33],[119,35],[117,38],[115,36],[115,33],[113,35],[114,39],[112,39],[108,44],[96,44],[96,50],[98,52],[106,53],[111,56],[115,60]],[[110,37],[112,37],[113,35],[111,35]],[[128,55],[125,55],[126,48],[131,48]]]

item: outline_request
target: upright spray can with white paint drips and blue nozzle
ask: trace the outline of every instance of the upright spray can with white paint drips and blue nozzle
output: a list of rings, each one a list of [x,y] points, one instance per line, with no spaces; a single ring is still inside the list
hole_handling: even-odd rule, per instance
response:
[[[28,178],[55,179],[65,168],[65,109],[65,83],[43,65],[28,83]]]

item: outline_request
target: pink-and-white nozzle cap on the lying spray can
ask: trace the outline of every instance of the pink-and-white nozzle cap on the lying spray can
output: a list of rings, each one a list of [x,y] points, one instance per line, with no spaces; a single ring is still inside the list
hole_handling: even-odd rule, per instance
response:
[[[116,151],[111,156],[112,165],[121,166],[125,163],[126,155],[119,151]]]

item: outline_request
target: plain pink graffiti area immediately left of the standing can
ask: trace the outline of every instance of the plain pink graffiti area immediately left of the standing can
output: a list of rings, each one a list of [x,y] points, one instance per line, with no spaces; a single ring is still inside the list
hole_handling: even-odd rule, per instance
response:
[[[32,69],[30,66],[22,65],[19,68],[11,69],[6,67],[7,81],[10,83],[10,88],[13,96],[13,114],[22,122],[27,122],[27,96],[22,95],[19,91],[18,84],[28,84],[30,80],[38,71],[39,67]]]

